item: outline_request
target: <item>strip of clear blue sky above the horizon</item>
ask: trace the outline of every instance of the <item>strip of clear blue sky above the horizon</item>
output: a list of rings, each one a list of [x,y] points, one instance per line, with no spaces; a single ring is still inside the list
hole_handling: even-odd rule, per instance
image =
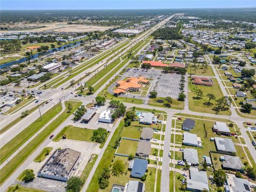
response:
[[[1,10],[186,9],[256,7],[256,0],[1,0]]]

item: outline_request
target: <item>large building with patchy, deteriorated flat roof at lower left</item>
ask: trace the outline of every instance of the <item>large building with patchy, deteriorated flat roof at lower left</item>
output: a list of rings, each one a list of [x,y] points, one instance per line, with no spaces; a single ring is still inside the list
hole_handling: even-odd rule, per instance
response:
[[[37,176],[68,181],[71,171],[76,168],[81,159],[81,153],[70,149],[56,150],[38,171]]]

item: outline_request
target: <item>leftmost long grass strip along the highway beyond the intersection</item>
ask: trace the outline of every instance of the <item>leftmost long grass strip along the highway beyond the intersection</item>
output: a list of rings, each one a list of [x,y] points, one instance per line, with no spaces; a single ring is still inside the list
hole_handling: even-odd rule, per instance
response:
[[[75,70],[73,70],[73,73],[72,73],[70,76],[68,76],[67,78],[63,79],[63,80],[62,80],[61,82],[59,82],[58,84],[53,85],[53,88],[59,87],[59,86],[62,85],[63,83],[66,83],[67,81],[69,81],[69,79],[71,79],[71,78],[77,76],[78,74],[81,74],[84,70],[86,70],[86,69],[88,69],[88,68],[90,68],[90,67],[96,65],[98,62],[102,61],[103,59],[105,59],[105,58],[107,58],[109,55],[111,55],[112,52],[115,52],[115,51],[117,51],[117,50],[119,50],[119,49],[122,49],[122,47],[125,46],[127,43],[129,43],[129,42],[125,42],[124,44],[121,44],[120,46],[116,47],[116,49],[114,49],[113,51],[112,51],[112,50],[109,50],[108,53],[107,53],[106,55],[104,55],[104,56],[100,55],[100,56],[101,56],[101,57],[99,57],[100,59],[95,58],[95,59],[98,59],[98,60],[93,59],[92,61],[86,63],[86,65],[85,65],[86,67],[83,66],[84,68],[82,68],[82,69],[79,68],[80,70],[79,70],[78,68],[76,68]]]

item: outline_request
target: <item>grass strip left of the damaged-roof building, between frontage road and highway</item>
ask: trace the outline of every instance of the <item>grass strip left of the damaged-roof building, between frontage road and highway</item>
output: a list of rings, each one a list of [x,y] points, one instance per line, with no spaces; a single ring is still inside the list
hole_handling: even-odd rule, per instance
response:
[[[68,112],[67,109],[67,103],[65,103],[66,109],[65,111],[63,111],[62,114],[60,114],[60,116],[58,116],[58,118],[56,118],[50,125],[48,125],[47,127],[45,127],[45,129],[39,133],[33,140],[31,140],[29,142],[29,144],[23,148],[17,155],[15,155],[15,157],[13,157],[11,159],[11,161],[9,163],[7,163],[1,170],[0,170],[0,174],[1,174],[1,178],[0,178],[0,184],[2,185],[2,183],[10,177],[10,175],[26,160],[26,158],[31,155],[33,153],[33,151],[39,146],[41,145],[41,143],[47,138],[49,137],[49,135],[59,126],[61,125],[71,114],[73,114],[75,112],[75,110],[82,105],[82,102],[77,102],[77,101],[69,101],[71,103],[71,105],[73,106],[73,110],[70,111],[70,113]],[[60,105],[60,104],[59,104]],[[61,106],[61,105],[60,105]],[[57,107],[55,107],[55,109],[51,109],[51,111],[55,111],[56,112]],[[61,110],[61,108],[59,107],[59,111]],[[49,115],[51,114],[51,112],[47,112],[45,115],[50,116],[50,119],[52,119],[53,115]],[[56,113],[57,114],[57,113]],[[45,117],[46,118],[46,117]],[[44,119],[44,118],[43,118]],[[44,121],[44,120],[43,120]],[[50,121],[50,120],[49,120]],[[40,121],[41,122],[41,121]],[[36,122],[37,123],[37,122]],[[32,127],[32,129],[35,129],[34,126]],[[17,142],[16,142],[17,143]],[[15,146],[15,144],[14,144]],[[14,151],[13,151],[14,152]],[[2,153],[2,151],[1,151]],[[2,156],[1,156],[2,157]]]

